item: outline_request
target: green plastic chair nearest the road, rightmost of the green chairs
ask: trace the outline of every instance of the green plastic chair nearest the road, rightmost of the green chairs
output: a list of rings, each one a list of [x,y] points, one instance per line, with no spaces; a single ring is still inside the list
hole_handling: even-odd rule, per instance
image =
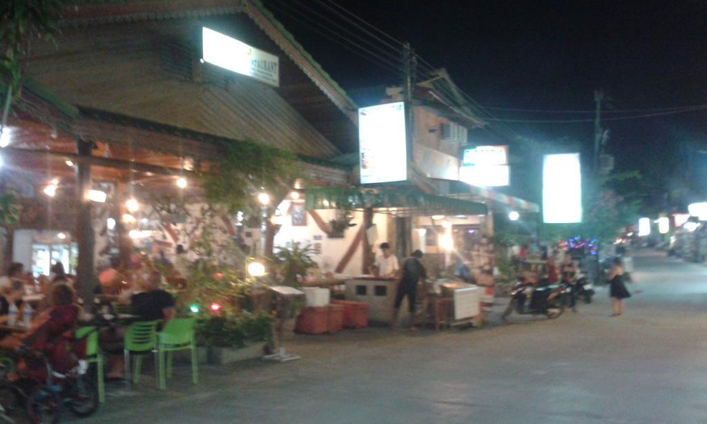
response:
[[[157,334],[160,390],[167,389],[166,379],[172,377],[172,355],[175,351],[192,351],[192,383],[197,384],[199,382],[197,343],[194,342],[194,324],[196,322],[194,318],[172,319]],[[165,355],[167,356],[166,363]]]

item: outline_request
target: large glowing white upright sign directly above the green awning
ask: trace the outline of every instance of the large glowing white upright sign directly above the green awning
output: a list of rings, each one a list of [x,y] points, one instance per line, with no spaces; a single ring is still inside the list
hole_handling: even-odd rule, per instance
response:
[[[404,102],[358,110],[361,184],[407,179],[407,136]]]

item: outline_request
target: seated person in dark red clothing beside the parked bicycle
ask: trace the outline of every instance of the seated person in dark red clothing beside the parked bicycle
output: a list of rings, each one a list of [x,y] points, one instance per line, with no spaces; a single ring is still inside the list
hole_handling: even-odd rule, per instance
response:
[[[0,340],[0,348],[18,350],[25,346],[49,355],[52,366],[58,372],[65,372],[70,367],[73,356],[66,343],[58,343],[67,332],[73,334],[81,307],[76,305],[76,292],[69,285],[59,284],[52,288],[49,295],[49,309],[33,319],[30,329],[25,334],[11,334]],[[18,370],[23,370],[23,363]]]

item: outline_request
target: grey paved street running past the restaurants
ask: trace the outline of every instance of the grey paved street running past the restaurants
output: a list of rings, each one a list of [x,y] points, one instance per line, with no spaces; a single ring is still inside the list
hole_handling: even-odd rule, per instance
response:
[[[492,329],[297,336],[287,364],[177,369],[112,389],[94,423],[707,423],[707,266],[634,260],[641,290]]]

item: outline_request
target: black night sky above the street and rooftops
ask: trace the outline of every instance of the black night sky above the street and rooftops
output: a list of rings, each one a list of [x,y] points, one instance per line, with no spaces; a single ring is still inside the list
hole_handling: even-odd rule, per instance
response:
[[[351,27],[334,12],[338,9],[331,1],[264,4],[346,90],[397,83],[399,76],[391,65],[381,65],[372,56],[385,55],[378,46],[390,54],[397,52]],[[611,99],[609,110],[707,103],[705,1],[339,0],[337,4],[395,39],[410,42],[432,66],[445,67],[457,85],[488,106],[495,118],[592,119],[591,113],[492,107],[593,110],[597,88]],[[363,54],[373,61],[342,47],[341,42],[349,45],[346,40],[332,41],[336,37],[332,30],[358,45],[364,42],[346,30],[370,40],[376,47],[367,45]],[[643,113],[609,112],[605,117]],[[652,196],[676,186],[707,185],[707,175],[701,172],[685,177],[685,170],[700,171],[695,167],[699,163],[689,158],[707,150],[707,110],[604,126],[611,131],[607,148],[616,155],[617,168],[641,170],[650,180],[646,185]],[[489,143],[569,142],[590,149],[593,124],[491,122],[479,138]]]

